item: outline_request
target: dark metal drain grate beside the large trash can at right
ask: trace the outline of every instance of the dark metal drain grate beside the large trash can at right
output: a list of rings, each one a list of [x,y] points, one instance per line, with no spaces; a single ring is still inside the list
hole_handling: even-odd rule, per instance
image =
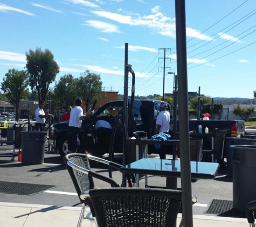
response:
[[[223,214],[233,208],[233,201],[230,200],[212,200],[207,214]]]

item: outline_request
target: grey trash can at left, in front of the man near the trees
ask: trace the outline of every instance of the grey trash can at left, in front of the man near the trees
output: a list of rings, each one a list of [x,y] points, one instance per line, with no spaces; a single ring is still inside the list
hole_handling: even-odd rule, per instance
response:
[[[21,132],[22,164],[43,164],[47,132]]]

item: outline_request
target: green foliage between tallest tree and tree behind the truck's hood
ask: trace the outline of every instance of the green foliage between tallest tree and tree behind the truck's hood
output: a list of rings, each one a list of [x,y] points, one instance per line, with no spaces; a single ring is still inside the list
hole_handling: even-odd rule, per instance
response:
[[[78,79],[74,79],[71,74],[60,77],[54,87],[54,100],[59,109],[66,109],[68,105],[74,105],[74,100],[79,97],[75,84]]]

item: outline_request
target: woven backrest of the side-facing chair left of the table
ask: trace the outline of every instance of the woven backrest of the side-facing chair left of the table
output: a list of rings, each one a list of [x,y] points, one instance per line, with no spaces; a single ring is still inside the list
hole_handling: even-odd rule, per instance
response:
[[[94,188],[93,178],[86,173],[82,173],[72,166],[68,165],[67,162],[71,161],[73,164],[87,169],[90,171],[89,159],[86,154],[72,153],[64,156],[64,162],[67,167],[67,171],[71,176],[75,190],[80,198],[82,192]],[[80,201],[83,203],[84,201]]]

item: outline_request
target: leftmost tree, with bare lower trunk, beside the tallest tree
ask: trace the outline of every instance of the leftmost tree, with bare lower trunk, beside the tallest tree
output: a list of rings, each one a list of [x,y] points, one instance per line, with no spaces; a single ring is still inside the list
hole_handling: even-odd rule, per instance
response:
[[[6,93],[10,103],[16,108],[16,120],[18,119],[19,101],[29,97],[29,75],[25,70],[9,69],[5,74],[1,89]]]

